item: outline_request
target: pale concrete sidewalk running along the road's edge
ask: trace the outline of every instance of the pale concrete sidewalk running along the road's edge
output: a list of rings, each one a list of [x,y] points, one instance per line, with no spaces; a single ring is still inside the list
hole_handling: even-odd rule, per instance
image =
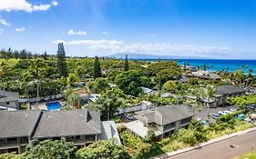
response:
[[[252,132],[252,131],[255,131],[255,130],[256,130],[256,127],[253,127],[253,128],[250,128],[250,129],[247,129],[247,130],[243,130],[243,131],[240,131],[240,132],[237,132],[237,133],[226,134],[226,135],[220,136],[220,137],[218,137],[218,138],[212,139],[212,140],[210,140],[210,141],[208,141],[208,142],[202,143],[202,144],[200,144],[200,146],[203,147],[203,146],[205,146],[205,145],[218,143],[218,142],[220,142],[220,141],[223,141],[223,140],[226,140],[226,139],[230,139],[230,138],[232,138],[232,137],[235,137],[235,136],[238,136],[238,135],[241,135],[241,134],[247,134],[247,133]],[[161,154],[161,155],[159,155],[159,156],[151,157],[150,159],[162,159],[162,158],[167,158],[167,157],[174,156],[174,155],[177,155],[177,154],[186,153],[186,152],[189,152],[189,151],[191,151],[191,150],[195,150],[195,149],[197,149],[197,148],[198,148],[198,145],[189,146],[189,147],[184,148],[184,149],[180,149],[180,150],[173,151],[173,152],[170,152],[170,153]]]

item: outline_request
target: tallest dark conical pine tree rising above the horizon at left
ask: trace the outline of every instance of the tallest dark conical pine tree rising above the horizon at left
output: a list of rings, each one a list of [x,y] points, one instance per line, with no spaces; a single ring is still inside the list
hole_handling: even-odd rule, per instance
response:
[[[67,61],[63,43],[58,44],[56,65],[61,76],[67,77]]]

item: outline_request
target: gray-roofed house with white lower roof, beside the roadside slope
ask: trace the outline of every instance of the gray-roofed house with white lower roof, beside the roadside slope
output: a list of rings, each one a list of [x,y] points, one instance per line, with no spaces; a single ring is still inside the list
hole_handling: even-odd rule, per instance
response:
[[[145,137],[148,131],[154,132],[159,139],[190,124],[194,111],[185,104],[166,105],[155,109],[137,112],[136,121],[124,124],[131,134]]]

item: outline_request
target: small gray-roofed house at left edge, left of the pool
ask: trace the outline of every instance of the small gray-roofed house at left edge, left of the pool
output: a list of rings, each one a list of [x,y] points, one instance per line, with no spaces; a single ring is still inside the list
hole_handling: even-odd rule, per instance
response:
[[[19,108],[19,94],[0,90],[0,110],[17,110]],[[5,105],[6,102],[6,105]]]

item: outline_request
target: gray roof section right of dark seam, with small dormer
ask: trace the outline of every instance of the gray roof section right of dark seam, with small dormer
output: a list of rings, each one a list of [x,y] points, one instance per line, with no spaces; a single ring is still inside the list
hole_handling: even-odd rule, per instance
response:
[[[98,112],[70,110],[44,112],[33,137],[44,138],[100,133],[100,114]]]

